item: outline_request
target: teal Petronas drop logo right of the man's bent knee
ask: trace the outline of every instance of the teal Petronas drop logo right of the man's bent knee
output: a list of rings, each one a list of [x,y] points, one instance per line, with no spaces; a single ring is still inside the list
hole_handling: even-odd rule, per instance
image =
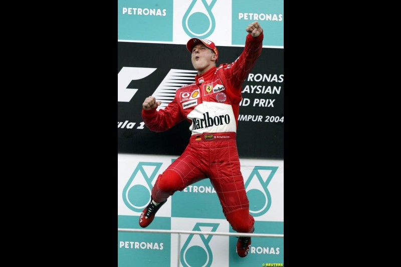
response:
[[[278,168],[276,166],[255,166],[245,183],[249,198],[249,213],[255,217],[265,214],[272,205],[272,196],[267,186]]]

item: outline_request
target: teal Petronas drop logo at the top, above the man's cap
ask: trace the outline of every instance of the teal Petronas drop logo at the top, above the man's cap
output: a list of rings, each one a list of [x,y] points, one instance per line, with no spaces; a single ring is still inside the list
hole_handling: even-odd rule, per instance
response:
[[[190,37],[205,39],[216,28],[215,16],[212,13],[217,0],[212,0],[210,5],[206,0],[192,0],[182,18],[182,28]]]

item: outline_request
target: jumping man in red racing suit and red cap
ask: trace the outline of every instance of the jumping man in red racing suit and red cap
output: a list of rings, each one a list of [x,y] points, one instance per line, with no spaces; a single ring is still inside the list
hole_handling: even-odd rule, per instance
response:
[[[161,102],[153,96],[143,102],[142,119],[150,130],[166,131],[187,120],[192,134],[181,156],[157,177],[151,201],[139,218],[141,227],[152,222],[157,210],[175,191],[209,177],[233,229],[243,233],[254,231],[255,219],[249,213],[236,132],[242,84],[262,52],[263,29],[254,22],[246,31],[244,51],[239,58],[218,68],[219,52],[215,44],[190,39],[186,47],[197,70],[195,82],[179,88],[164,110],[156,110]],[[245,257],[250,245],[251,237],[240,237],[237,253]]]

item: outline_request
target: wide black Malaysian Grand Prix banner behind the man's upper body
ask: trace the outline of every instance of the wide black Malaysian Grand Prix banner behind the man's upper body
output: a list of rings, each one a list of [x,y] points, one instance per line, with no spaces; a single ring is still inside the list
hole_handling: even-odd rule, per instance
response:
[[[218,65],[235,61],[243,51],[218,49]],[[185,45],[118,42],[118,153],[182,153],[190,137],[189,122],[152,132],[143,125],[142,103],[156,93],[166,105],[177,88],[194,81],[195,73]],[[240,158],[284,159],[284,49],[263,48],[242,96]]]

